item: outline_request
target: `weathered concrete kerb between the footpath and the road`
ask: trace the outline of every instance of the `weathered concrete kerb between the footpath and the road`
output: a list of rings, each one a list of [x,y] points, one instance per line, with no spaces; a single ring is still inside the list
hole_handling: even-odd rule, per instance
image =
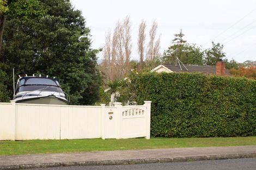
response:
[[[84,162],[34,163],[34,164],[26,164],[26,165],[0,166],[0,170],[48,168],[48,167],[61,167],[61,166],[64,167],[64,166],[89,166],[89,165],[90,166],[93,166],[93,165],[132,165],[132,164],[136,164],[136,163],[163,163],[163,162],[199,161],[199,160],[238,159],[238,158],[256,158],[256,153],[186,156],[186,157],[154,158],[154,159],[127,159],[127,160],[105,160],[105,161],[84,161]]]

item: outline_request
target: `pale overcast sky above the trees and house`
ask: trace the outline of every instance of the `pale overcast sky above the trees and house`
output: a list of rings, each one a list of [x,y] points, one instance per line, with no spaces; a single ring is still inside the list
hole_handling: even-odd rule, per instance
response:
[[[145,20],[149,28],[156,20],[161,53],[182,29],[184,39],[202,49],[211,47],[213,40],[223,43],[229,60],[256,60],[256,0],[71,0],[71,3],[86,18],[93,48],[103,47],[106,33],[114,29],[118,20],[130,16],[132,59],[138,59],[139,23]]]

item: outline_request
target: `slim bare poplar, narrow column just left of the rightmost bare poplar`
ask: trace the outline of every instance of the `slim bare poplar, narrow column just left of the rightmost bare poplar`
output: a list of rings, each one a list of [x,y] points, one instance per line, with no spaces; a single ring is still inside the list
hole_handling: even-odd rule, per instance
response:
[[[139,68],[142,69],[144,62],[144,53],[145,53],[145,40],[146,40],[146,22],[142,21],[139,24],[139,33],[138,33],[138,54],[139,54]]]

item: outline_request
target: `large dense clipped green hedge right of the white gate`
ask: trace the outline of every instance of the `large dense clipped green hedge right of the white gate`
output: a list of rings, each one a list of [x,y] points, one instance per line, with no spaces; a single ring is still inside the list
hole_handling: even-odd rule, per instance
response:
[[[151,100],[151,135],[256,135],[256,81],[199,73],[146,73],[131,78],[142,104]]]

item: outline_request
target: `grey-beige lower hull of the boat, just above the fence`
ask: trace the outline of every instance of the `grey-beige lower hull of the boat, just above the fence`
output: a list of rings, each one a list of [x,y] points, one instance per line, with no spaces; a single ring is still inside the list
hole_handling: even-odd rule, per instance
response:
[[[57,98],[56,96],[36,97],[22,100],[16,100],[16,103],[28,103],[28,104],[56,104],[56,105],[68,105],[68,101]]]

